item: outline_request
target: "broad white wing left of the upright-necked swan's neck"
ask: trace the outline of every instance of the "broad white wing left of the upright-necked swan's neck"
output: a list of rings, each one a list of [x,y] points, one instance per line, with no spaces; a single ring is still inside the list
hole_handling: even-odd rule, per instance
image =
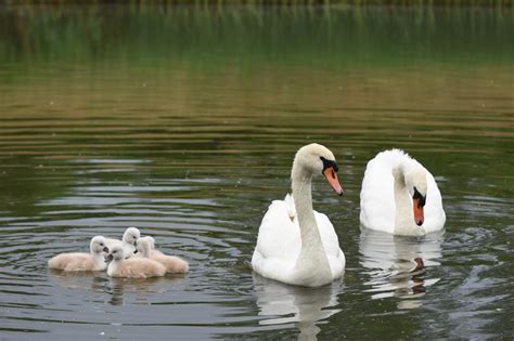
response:
[[[291,202],[286,200],[271,202],[262,218],[252,258],[255,272],[278,280],[281,280],[280,274],[293,268],[301,247],[299,227],[292,222],[287,205]]]

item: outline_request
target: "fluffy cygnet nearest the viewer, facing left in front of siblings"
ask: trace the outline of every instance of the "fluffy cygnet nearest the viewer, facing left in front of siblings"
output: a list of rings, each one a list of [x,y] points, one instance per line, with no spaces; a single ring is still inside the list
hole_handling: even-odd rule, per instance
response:
[[[166,274],[164,265],[151,259],[131,258],[126,260],[120,246],[113,247],[105,261],[112,261],[107,267],[107,275],[112,277],[147,278]]]

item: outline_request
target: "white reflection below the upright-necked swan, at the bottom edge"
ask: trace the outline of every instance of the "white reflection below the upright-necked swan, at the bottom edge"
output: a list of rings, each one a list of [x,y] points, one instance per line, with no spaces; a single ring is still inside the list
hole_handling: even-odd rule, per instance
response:
[[[254,273],[258,315],[269,316],[259,320],[259,325],[295,323],[300,331],[298,339],[316,339],[320,332],[317,324],[340,312],[335,306],[342,286],[339,281],[319,288],[290,286]]]

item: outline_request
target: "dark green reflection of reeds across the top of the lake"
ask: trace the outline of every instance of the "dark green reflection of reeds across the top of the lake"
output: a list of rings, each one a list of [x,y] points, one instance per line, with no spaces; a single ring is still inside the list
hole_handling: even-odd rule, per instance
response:
[[[512,10],[501,6],[13,5],[0,11],[0,64],[497,64],[512,61],[511,31]]]

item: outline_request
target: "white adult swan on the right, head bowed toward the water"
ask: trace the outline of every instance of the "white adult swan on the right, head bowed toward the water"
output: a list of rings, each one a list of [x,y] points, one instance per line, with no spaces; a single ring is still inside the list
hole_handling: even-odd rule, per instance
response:
[[[404,152],[378,153],[365,168],[360,193],[364,227],[404,236],[442,229],[446,214],[434,176]]]

